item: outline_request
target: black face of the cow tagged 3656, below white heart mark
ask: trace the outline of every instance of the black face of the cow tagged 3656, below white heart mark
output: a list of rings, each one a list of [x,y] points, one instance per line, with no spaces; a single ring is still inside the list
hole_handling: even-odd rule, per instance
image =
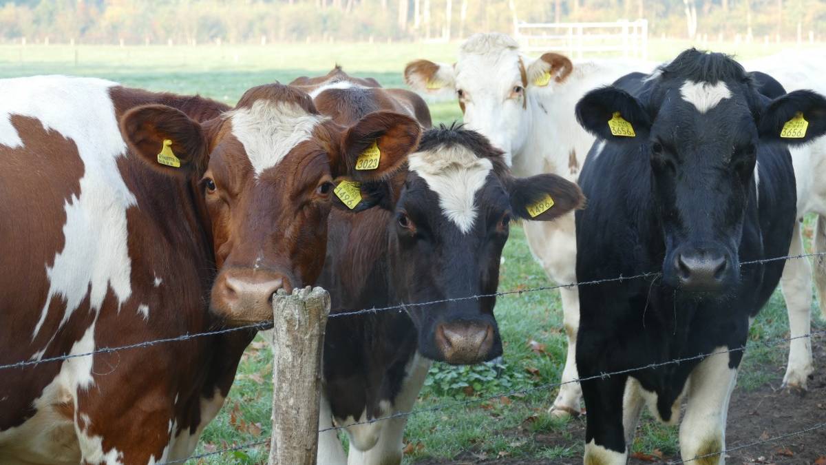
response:
[[[682,85],[691,87],[691,82]],[[704,113],[681,89],[667,90],[668,103],[654,118],[643,147],[666,244],[663,279],[682,290],[726,289],[738,280],[738,244],[754,189],[758,143],[741,87],[719,81],[688,93]],[[715,93],[729,97],[705,108]]]

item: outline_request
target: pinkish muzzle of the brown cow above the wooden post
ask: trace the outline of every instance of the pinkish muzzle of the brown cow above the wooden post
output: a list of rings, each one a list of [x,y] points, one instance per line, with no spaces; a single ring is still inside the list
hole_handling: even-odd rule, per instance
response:
[[[273,319],[273,295],[292,292],[291,280],[273,271],[227,270],[212,286],[211,309],[229,324],[249,324]]]

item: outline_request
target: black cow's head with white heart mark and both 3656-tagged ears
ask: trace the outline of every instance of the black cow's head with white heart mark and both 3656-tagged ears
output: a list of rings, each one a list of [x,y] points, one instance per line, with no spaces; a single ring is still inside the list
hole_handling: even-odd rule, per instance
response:
[[[739,277],[748,201],[757,199],[757,152],[826,132],[826,99],[795,91],[769,100],[736,61],[693,49],[646,81],[639,98],[615,87],[587,93],[577,119],[596,137],[633,144],[629,153],[650,160],[665,282],[683,290],[729,289]],[[805,136],[781,137],[797,113],[808,121]]]

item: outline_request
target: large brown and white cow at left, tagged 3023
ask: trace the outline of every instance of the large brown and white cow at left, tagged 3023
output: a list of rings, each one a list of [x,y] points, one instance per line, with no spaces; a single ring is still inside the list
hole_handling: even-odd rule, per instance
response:
[[[100,79],[0,80],[0,364],[265,318],[275,290],[319,275],[334,181],[376,180],[419,136],[395,113],[342,126],[280,84],[230,109]],[[374,142],[379,167],[354,170]],[[0,463],[186,458],[253,335],[0,373]]]

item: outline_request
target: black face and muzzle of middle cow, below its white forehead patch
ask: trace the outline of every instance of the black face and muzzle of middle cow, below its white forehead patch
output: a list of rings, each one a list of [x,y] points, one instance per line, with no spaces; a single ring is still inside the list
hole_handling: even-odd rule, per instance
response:
[[[388,225],[392,285],[402,302],[488,295],[499,285],[510,203],[496,175],[475,192],[477,214],[463,232],[439,206],[439,194],[411,172]],[[419,332],[419,351],[434,360],[469,364],[502,354],[493,315],[495,297],[407,307]]]

